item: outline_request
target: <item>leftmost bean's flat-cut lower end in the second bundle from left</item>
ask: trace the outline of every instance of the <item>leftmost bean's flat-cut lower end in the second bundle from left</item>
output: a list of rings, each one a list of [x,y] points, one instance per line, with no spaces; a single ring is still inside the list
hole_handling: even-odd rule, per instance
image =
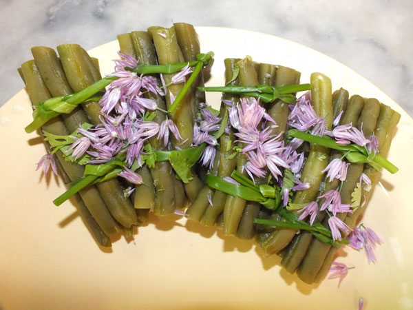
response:
[[[134,207],[135,209],[152,209],[155,205],[155,187],[153,178],[147,165],[136,171],[142,177],[142,184],[135,186]]]

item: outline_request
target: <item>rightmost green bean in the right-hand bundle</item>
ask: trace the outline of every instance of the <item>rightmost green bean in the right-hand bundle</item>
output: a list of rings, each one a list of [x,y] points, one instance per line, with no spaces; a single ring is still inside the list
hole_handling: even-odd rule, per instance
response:
[[[377,113],[377,104],[378,101],[376,99],[368,99],[366,101],[366,105],[370,103],[370,109],[369,111],[366,111],[366,118],[360,120],[360,125],[363,123],[363,133],[365,136],[370,136],[372,130],[371,126],[371,118],[369,118],[369,115],[374,118],[374,113]],[[379,139],[379,152],[381,155],[386,156],[388,153],[388,150],[390,148],[390,143],[392,140],[392,132],[394,130],[394,127],[396,127],[397,123],[399,123],[400,119],[400,114],[397,112],[394,112],[393,110],[390,109],[390,107],[381,105],[379,107],[380,109],[380,114],[379,118],[377,118],[377,125],[376,125],[376,132],[380,132],[380,135],[377,135],[377,138]],[[389,115],[390,114],[390,115]],[[382,116],[382,117],[380,117]],[[390,117],[389,117],[390,116]],[[369,124],[368,124],[369,123]],[[370,125],[370,127],[369,127]],[[367,128],[370,128],[370,131],[368,131]],[[365,131],[366,128],[366,131]],[[385,132],[385,134],[384,134]],[[381,146],[380,146],[381,145]],[[365,168],[363,170],[364,173],[366,173],[370,180],[372,181],[372,189],[374,188],[374,185],[376,185],[377,181],[379,180],[380,172],[378,172],[376,169],[372,168],[370,165],[365,165]],[[364,199],[365,201],[368,200],[372,193],[372,189],[370,189],[370,192],[362,191],[364,194]],[[365,210],[365,207],[359,207],[356,211],[354,211],[354,214],[348,214],[344,220],[344,223],[349,225],[349,227],[354,228],[354,225],[356,223],[357,218]],[[346,238],[346,234],[343,236]],[[321,266],[319,272],[317,273],[317,276],[315,277],[315,282],[319,282],[322,278],[326,276],[326,273],[328,271],[328,268],[331,265],[331,262],[333,258],[335,257],[335,254],[337,252],[336,248],[330,248],[328,251],[328,254],[326,255],[326,258],[324,259],[323,265]]]

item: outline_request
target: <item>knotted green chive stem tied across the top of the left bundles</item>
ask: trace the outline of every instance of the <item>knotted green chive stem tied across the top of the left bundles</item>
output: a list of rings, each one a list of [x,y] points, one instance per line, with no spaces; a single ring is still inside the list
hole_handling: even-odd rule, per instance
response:
[[[169,107],[168,112],[171,113],[176,110],[180,101],[182,100],[182,98],[184,98],[185,94],[189,90],[189,87],[191,87],[204,65],[208,65],[213,59],[213,56],[213,52],[208,52],[207,54],[201,53],[197,55],[197,61],[191,61],[189,63],[173,63],[168,65],[138,65],[136,68],[126,69],[131,72],[136,72],[137,74],[171,74],[174,72],[179,72],[187,65],[189,65],[189,67],[195,67],[187,83],[184,85],[178,96],[176,96],[176,99],[171,107]],[[80,92],[77,92],[76,94],[55,97],[44,101],[43,103],[39,103],[39,105],[36,107],[36,110],[34,110],[33,112],[34,120],[27,127],[25,127],[25,132],[30,133],[34,132],[34,130],[38,130],[42,125],[47,123],[47,121],[50,121],[50,119],[55,118],[62,113],[68,114],[72,112],[77,105],[87,101],[88,99],[92,98],[94,101],[96,101],[94,95],[117,79],[119,79],[118,76],[105,76],[103,79],[100,79],[96,83],[93,83],[92,85],[86,87]]]

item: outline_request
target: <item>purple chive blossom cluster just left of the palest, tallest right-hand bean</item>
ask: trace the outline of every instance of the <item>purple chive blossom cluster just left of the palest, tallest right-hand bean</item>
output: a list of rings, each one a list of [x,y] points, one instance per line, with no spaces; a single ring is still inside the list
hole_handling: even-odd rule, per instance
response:
[[[306,132],[313,127],[312,134],[323,136],[326,131],[326,120],[315,113],[310,92],[301,96],[288,115],[288,125],[297,128],[301,132]]]

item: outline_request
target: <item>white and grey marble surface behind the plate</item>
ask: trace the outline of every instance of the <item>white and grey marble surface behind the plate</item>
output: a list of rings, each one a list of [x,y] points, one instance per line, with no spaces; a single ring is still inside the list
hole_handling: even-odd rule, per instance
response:
[[[359,72],[413,116],[412,0],[0,0],[0,4],[0,106],[23,87],[16,69],[30,59],[34,45],[79,43],[88,49],[116,39],[116,34],[185,21],[266,32],[307,45]]]

